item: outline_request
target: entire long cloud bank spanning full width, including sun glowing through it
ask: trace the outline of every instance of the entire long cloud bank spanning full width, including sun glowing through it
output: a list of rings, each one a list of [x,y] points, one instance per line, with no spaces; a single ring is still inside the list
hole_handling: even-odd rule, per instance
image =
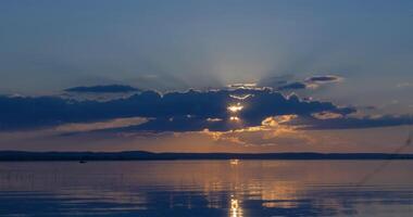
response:
[[[114,131],[228,131],[263,126],[292,115],[283,125],[298,129],[349,129],[413,124],[412,116],[354,117],[352,106],[286,97],[271,88],[185,92],[142,91],[109,101],[60,97],[0,97],[0,130],[57,129]],[[134,119],[136,118],[136,119]],[[62,127],[63,126],[63,127]]]

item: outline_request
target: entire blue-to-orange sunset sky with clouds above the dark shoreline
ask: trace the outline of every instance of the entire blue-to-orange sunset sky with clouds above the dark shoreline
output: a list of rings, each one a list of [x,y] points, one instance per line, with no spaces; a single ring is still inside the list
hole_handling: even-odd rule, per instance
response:
[[[412,25],[409,0],[3,0],[0,150],[391,153]]]

